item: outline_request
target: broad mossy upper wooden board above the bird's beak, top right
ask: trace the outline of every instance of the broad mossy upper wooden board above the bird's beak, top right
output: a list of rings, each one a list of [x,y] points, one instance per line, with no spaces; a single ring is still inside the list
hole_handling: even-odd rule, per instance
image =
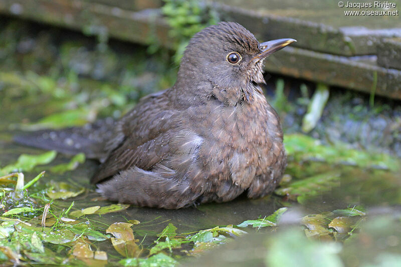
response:
[[[345,16],[347,8],[338,7],[337,1],[215,1],[224,20],[238,21],[262,39],[295,38],[293,46],[314,51],[376,54],[382,38],[401,37],[399,15]],[[395,2],[401,6],[400,1]]]

